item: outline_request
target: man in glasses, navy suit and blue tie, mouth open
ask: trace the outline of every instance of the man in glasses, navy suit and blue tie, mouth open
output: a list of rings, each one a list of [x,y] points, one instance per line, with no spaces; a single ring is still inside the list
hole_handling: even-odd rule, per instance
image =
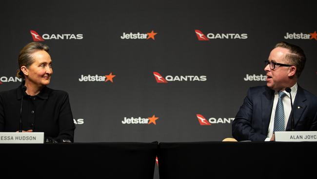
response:
[[[247,92],[232,123],[238,141],[272,141],[275,131],[291,130],[291,88],[295,131],[317,131],[317,97],[297,85],[305,66],[303,50],[285,42],[278,43],[265,61],[266,86]]]

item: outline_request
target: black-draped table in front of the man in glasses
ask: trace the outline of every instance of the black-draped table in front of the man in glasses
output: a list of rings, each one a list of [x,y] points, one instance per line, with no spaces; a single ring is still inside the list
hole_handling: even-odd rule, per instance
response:
[[[160,179],[317,178],[316,142],[161,142]]]

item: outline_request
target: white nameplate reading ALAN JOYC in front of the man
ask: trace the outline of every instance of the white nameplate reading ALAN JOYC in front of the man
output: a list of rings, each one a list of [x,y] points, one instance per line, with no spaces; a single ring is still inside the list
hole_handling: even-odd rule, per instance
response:
[[[317,131],[280,131],[275,132],[277,142],[316,142]]]

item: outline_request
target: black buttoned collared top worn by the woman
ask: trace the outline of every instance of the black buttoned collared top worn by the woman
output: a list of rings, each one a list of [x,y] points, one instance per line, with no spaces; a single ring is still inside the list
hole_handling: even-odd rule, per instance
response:
[[[0,92],[0,132],[19,131],[22,82],[14,90]],[[74,141],[75,124],[68,93],[44,87],[36,96],[23,91],[22,129],[44,132],[45,138]]]

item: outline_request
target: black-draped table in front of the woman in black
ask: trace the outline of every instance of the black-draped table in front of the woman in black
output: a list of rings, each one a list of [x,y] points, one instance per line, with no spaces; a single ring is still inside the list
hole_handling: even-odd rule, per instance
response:
[[[157,147],[158,142],[0,144],[0,175],[153,179]]]

